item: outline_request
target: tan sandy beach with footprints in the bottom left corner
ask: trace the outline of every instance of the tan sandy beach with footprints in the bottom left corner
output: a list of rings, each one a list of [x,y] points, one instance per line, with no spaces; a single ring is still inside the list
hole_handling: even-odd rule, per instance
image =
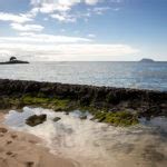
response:
[[[73,167],[70,160],[43,148],[38,137],[13,131],[2,120],[0,112],[0,167]]]

